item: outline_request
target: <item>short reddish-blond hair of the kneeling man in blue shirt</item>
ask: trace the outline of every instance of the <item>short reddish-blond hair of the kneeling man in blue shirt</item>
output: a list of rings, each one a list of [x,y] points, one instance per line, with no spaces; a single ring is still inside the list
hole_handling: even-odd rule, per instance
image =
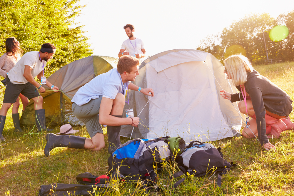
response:
[[[133,66],[140,65],[141,61],[138,58],[135,58],[133,56],[123,55],[121,58],[119,58],[117,63],[117,71],[120,74],[123,74],[123,72],[131,73]]]

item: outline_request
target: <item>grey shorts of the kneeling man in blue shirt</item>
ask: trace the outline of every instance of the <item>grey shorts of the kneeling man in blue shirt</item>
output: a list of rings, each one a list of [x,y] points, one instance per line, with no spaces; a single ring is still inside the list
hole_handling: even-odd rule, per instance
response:
[[[99,124],[99,111],[101,104],[102,96],[99,96],[98,99],[91,99],[88,103],[78,106],[76,103],[73,103],[71,109],[74,112],[74,115],[78,120],[81,120],[85,123],[87,131],[91,138],[96,135],[96,133],[102,133],[103,130]]]

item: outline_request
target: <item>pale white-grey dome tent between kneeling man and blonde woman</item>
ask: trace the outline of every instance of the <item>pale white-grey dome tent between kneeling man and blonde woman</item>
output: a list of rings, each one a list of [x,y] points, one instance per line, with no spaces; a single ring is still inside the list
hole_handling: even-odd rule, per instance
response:
[[[134,83],[153,88],[154,97],[129,91],[130,108],[135,116],[142,111],[138,116],[141,124],[134,129],[132,137],[180,136],[189,142],[236,135],[242,119],[237,103],[220,96],[222,89],[233,93],[223,71],[223,65],[203,51],[176,49],[147,58]],[[120,134],[130,137],[132,128],[124,125]]]

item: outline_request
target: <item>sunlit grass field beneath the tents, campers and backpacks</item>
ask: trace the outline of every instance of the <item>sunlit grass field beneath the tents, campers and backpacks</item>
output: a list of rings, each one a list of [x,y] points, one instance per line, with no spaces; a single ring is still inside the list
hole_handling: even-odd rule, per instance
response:
[[[255,69],[294,100],[294,62],[260,65]],[[3,89],[2,85],[1,101]],[[294,121],[293,113],[290,118]],[[84,126],[73,128],[80,130],[76,135],[89,137]],[[45,157],[46,133],[27,134],[31,129],[28,127],[23,133],[15,133],[9,110],[3,131],[6,141],[0,143],[0,196],[36,195],[40,185],[76,184],[75,177],[80,173],[100,176],[107,172],[107,145],[98,152],[60,147],[53,149],[50,157]],[[54,130],[57,132],[59,127]],[[104,140],[107,144],[105,133]],[[122,142],[126,141],[125,138]],[[217,176],[208,176],[189,177],[172,190],[171,186],[180,178],[170,179],[168,176],[176,167],[167,165],[159,175],[158,185],[163,192],[151,191],[149,195],[294,195],[294,133],[284,131],[280,138],[270,139],[270,142],[276,146],[276,151],[266,152],[258,141],[243,137],[214,141],[216,147],[222,148],[226,160],[237,163],[237,167],[223,177],[220,188],[216,185]],[[98,195],[135,195],[135,190],[139,190],[136,195],[143,195],[140,183],[111,183],[113,188],[107,194]]]

